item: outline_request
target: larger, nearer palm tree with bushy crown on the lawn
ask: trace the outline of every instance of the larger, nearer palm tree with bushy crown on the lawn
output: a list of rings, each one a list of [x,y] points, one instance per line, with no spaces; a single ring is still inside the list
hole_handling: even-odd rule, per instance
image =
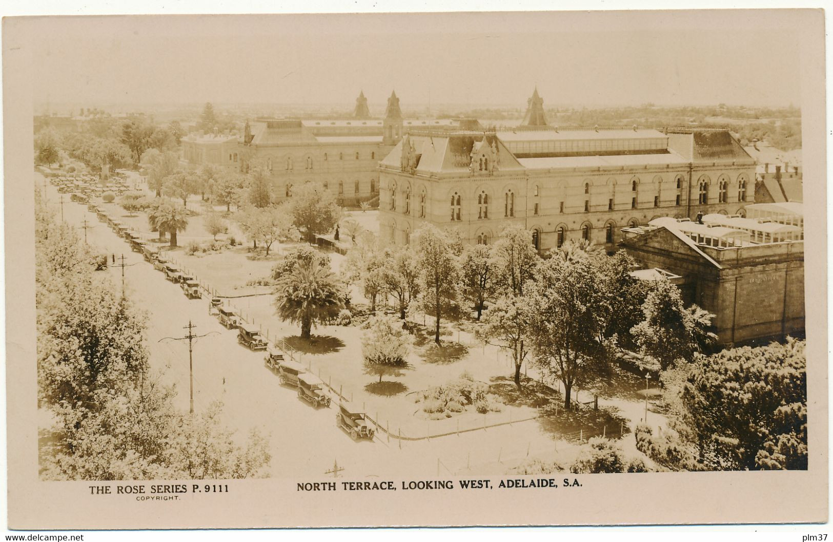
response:
[[[301,324],[301,338],[309,339],[312,323],[326,323],[344,308],[342,293],[329,266],[302,261],[284,275],[275,289],[277,315]]]

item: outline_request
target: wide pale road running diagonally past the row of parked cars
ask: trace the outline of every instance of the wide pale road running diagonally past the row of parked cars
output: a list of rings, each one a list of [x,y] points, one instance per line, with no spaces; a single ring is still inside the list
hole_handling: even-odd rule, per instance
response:
[[[36,174],[36,182],[43,185],[40,174]],[[59,194],[52,185],[47,184],[47,196],[60,218]],[[67,196],[64,200],[69,199]],[[405,441],[402,448],[397,440],[388,442],[385,436],[372,442],[354,442],[335,425],[337,407],[316,410],[298,399],[295,389],[280,386],[277,377],[264,367],[263,354],[237,344],[237,333],[223,328],[208,314],[207,300],[187,299],[177,284],[168,282],[140,254],[131,252],[107,224],[98,222],[86,205],[65,202],[63,217],[77,227],[86,219],[92,225],[87,229],[90,244],[115,254],[117,259],[124,255],[129,264],[124,269],[125,292],[148,314],[152,369],[164,370],[166,382],[176,385],[176,405],[183,411],[188,409],[187,341],[158,341],[184,336],[187,330],[183,327],[189,321],[196,326],[195,334],[212,333],[194,343],[194,409],[199,413],[220,399],[225,405],[224,421],[237,429],[238,436],[245,436],[255,426],[270,434],[273,476],[300,475],[317,480],[334,461],[345,468],[342,476],[346,479],[436,477],[437,472],[448,476],[469,469],[500,475],[513,460],[520,461],[527,454],[551,454],[554,449],[551,437],[534,421],[432,441]],[[120,288],[122,270],[111,267],[107,272]],[[567,447],[561,443],[558,446]]]

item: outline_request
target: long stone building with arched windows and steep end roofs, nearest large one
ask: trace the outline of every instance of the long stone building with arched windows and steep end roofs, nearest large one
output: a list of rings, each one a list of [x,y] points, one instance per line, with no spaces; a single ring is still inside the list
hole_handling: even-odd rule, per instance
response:
[[[753,201],[755,160],[725,129],[540,122],[536,91],[516,129],[408,131],[379,165],[382,239],[407,243],[430,222],[468,243],[491,243],[516,223],[541,252],[567,239],[614,250],[623,226],[737,214]]]

